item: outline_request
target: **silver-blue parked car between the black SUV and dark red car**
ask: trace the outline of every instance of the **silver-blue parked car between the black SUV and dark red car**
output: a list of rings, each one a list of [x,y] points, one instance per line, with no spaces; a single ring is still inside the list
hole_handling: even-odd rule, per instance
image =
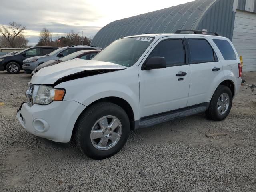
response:
[[[54,52],[51,52],[50,54],[39,56],[39,57],[32,57],[25,59],[23,61],[22,68],[24,69],[25,73],[31,74],[32,71],[40,64],[43,64],[44,62],[50,61],[50,60],[58,60],[64,56],[67,56],[71,53],[74,53],[76,51],[80,50],[101,50],[100,47],[94,47],[94,46],[68,46],[68,47],[62,47]]]

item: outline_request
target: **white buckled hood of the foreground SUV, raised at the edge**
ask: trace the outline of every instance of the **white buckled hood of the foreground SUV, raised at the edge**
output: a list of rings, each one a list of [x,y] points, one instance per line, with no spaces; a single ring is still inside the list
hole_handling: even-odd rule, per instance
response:
[[[32,76],[32,84],[54,84],[57,80],[91,70],[121,70],[127,67],[103,61],[73,59],[40,69]]]

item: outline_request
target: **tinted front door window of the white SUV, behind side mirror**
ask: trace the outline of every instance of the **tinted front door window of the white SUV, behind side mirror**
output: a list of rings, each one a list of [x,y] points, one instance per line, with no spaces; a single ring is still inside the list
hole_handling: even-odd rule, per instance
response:
[[[151,57],[164,57],[167,67],[184,64],[185,54],[182,39],[169,39],[158,43],[148,59]]]

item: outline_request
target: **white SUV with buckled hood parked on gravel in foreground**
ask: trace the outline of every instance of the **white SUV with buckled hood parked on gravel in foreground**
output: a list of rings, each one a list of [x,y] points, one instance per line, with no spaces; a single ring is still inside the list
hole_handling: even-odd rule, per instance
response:
[[[42,68],[18,110],[20,124],[56,142],[72,138],[102,159],[130,130],[201,112],[223,120],[242,81],[240,60],[228,38],[194,33],[124,37],[92,60]]]

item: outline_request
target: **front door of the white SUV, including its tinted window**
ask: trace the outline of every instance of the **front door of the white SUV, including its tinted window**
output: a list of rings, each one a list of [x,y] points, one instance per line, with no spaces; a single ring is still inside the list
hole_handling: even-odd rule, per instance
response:
[[[153,56],[164,57],[167,68],[142,70],[140,64],[138,72],[141,117],[186,107],[190,66],[186,62],[184,42],[183,37],[162,38],[142,61],[144,63]]]

